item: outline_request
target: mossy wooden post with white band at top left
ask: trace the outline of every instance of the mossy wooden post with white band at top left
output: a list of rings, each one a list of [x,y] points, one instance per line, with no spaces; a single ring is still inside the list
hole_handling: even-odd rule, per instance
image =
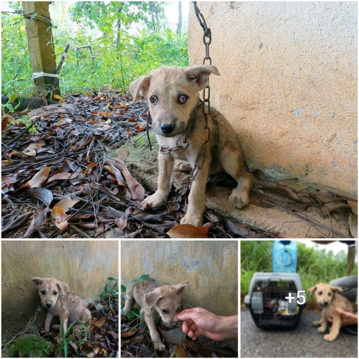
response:
[[[56,74],[49,2],[24,1],[23,9],[32,72]],[[58,77],[40,76],[34,78],[34,83],[38,94],[49,94],[51,91],[52,95],[60,94]]]

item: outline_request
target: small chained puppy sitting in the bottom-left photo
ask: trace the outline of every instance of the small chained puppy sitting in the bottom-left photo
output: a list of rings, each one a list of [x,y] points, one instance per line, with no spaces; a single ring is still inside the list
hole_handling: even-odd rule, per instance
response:
[[[77,295],[67,291],[68,285],[57,281],[56,278],[31,277],[34,286],[38,289],[41,304],[47,309],[45,318],[45,331],[50,331],[53,316],[60,319],[59,332],[61,333],[61,321],[64,321],[64,332],[67,324],[74,321],[83,321],[87,325],[91,320],[91,312]],[[57,327],[57,326],[53,326]]]

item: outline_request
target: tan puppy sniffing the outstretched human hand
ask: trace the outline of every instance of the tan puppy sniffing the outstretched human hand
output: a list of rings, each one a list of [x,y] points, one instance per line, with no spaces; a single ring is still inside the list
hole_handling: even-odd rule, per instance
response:
[[[176,325],[174,316],[181,310],[181,297],[188,282],[182,282],[176,286],[162,285],[152,278],[141,282],[135,282],[126,289],[126,301],[123,309],[124,315],[131,310],[131,303],[135,302],[141,307],[142,319],[150,330],[150,336],[155,349],[164,351],[166,346],[162,343],[158,331],[154,325],[156,312],[161,316],[164,325],[171,328]]]

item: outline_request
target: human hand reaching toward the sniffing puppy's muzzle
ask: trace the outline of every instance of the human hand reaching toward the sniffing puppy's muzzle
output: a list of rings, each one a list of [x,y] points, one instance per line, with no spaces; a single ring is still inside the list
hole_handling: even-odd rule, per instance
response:
[[[197,307],[178,313],[174,321],[183,321],[182,331],[193,340],[199,335],[206,335],[215,341],[238,335],[238,315],[220,316]]]

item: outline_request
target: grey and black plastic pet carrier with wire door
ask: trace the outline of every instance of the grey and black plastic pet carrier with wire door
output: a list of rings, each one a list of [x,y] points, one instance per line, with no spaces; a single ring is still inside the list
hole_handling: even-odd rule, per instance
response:
[[[304,304],[301,277],[297,273],[254,273],[244,303],[255,325],[262,329],[292,329],[300,321]],[[288,293],[291,293],[289,303]],[[303,292],[304,293],[304,292]],[[300,294],[303,294],[300,293]]]

